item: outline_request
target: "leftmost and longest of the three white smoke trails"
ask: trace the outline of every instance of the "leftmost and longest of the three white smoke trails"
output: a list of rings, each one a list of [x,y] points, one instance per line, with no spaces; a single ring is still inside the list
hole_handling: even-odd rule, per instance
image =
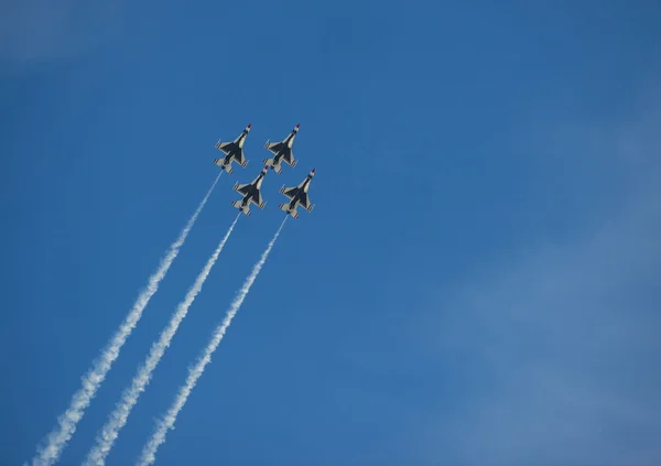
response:
[[[159,284],[165,278],[167,270],[170,270],[170,265],[172,265],[172,262],[177,257],[181,247],[184,245],[188,232],[193,228],[195,220],[197,220],[197,216],[209,198],[214,187],[216,187],[216,183],[218,183],[221,174],[223,172],[216,176],[214,184],[212,184],[212,187],[209,191],[207,191],[204,199],[202,199],[202,203],[199,203],[199,206],[197,206],[197,209],[188,219],[188,223],[180,234],[176,241],[170,245],[170,249],[167,250],[165,257],[161,259],[159,268],[149,278],[147,286],[138,295],[136,303],[133,303],[133,307],[131,307],[131,311],[121,323],[119,329],[108,342],[101,351],[100,357],[94,360],[91,369],[85,376],[83,376],[83,387],[80,387],[78,391],[74,393],[69,407],[57,419],[57,425],[46,437],[45,446],[40,446],[37,448],[36,456],[32,459],[33,466],[51,466],[59,458],[62,451],[76,432],[76,425],[78,424],[78,421],[83,419],[85,410],[91,402],[91,399],[95,397],[102,381],[106,379],[108,371],[112,367],[112,362],[115,362],[119,356],[119,350],[126,343],[129,335],[131,335],[133,328],[136,328],[136,325],[138,325],[138,321],[140,321],[142,312],[144,311],[144,307],[147,307],[149,300],[151,300],[154,293],[159,290]]]

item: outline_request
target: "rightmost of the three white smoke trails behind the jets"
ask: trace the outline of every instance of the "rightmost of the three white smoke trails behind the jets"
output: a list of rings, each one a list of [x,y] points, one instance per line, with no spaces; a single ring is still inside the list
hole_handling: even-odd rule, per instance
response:
[[[284,217],[284,220],[282,220],[280,228],[278,228],[278,231],[275,231],[273,239],[271,239],[271,242],[269,242],[269,246],[267,246],[267,249],[264,250],[264,252],[262,252],[259,262],[257,262],[252,268],[252,272],[250,272],[250,275],[248,275],[248,278],[246,279],[243,286],[241,286],[234,302],[229,306],[229,310],[225,315],[225,319],[218,327],[216,327],[216,330],[214,332],[209,344],[197,359],[197,362],[193,368],[188,369],[188,377],[186,378],[186,382],[180,388],[180,391],[176,398],[174,399],[174,402],[167,410],[165,416],[158,422],[154,433],[142,449],[142,455],[137,463],[138,466],[149,466],[156,460],[156,449],[159,449],[159,446],[161,446],[161,444],[165,442],[165,435],[167,434],[167,431],[174,427],[174,422],[176,421],[177,414],[180,413],[182,408],[184,408],[184,404],[186,403],[186,400],[188,399],[191,392],[195,388],[197,380],[202,377],[206,365],[212,361],[212,355],[220,344],[220,340],[225,336],[225,332],[227,332],[227,327],[229,327],[229,324],[231,324],[231,319],[236,315],[237,311],[239,311],[239,307],[241,307],[246,295],[250,291],[250,286],[252,286],[252,283],[257,279],[257,275],[259,274],[264,262],[267,261],[267,258],[271,252],[271,248],[273,248],[273,245],[275,243],[280,231],[282,231],[282,227],[284,227],[284,223],[286,221],[286,219],[288,217]]]

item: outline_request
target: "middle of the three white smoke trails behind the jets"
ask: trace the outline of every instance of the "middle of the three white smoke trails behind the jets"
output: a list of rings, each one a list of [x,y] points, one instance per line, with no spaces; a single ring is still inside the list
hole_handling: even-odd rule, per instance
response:
[[[204,282],[209,275],[212,268],[218,260],[218,256],[220,254],[220,251],[223,251],[223,248],[231,235],[235,225],[237,225],[240,215],[241,213],[237,214],[237,217],[227,230],[227,234],[225,234],[225,237],[218,243],[218,247],[204,265],[204,269],[202,269],[202,272],[199,272],[199,275],[197,275],[195,283],[193,283],[193,286],[191,286],[188,293],[186,293],[184,301],[178,304],[176,311],[174,314],[172,314],[172,318],[170,319],[167,327],[165,327],[165,329],[161,333],[159,340],[152,345],[149,356],[144,360],[144,364],[138,369],[131,386],[123,391],[121,400],[119,403],[117,403],[117,407],[115,408],[115,411],[110,413],[106,425],[104,425],[101,432],[99,432],[97,435],[96,445],[91,448],[87,455],[87,459],[85,460],[86,466],[101,466],[106,463],[106,457],[108,456],[110,448],[112,448],[112,444],[117,440],[119,431],[121,431],[121,429],[126,425],[131,410],[140,398],[140,393],[144,391],[145,387],[150,382],[154,369],[159,365],[163,354],[165,354],[165,349],[167,349],[170,346],[170,343],[172,342],[172,338],[174,337],[180,324],[186,317],[191,304],[193,304],[193,301],[195,301],[195,297],[202,291]]]

